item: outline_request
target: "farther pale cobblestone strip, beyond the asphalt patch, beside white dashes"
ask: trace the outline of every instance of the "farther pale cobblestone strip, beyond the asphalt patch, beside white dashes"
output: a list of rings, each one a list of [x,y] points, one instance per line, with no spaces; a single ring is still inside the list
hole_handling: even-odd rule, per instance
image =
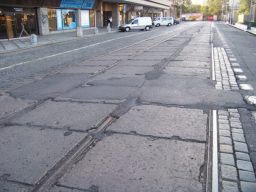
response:
[[[224,48],[214,47],[215,79],[217,84],[215,89],[231,90],[239,89],[236,77],[228,60],[228,55]]]

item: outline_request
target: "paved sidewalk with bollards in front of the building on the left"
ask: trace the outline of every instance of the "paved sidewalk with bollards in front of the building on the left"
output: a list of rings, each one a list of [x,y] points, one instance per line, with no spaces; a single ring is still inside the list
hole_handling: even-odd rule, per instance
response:
[[[0,53],[6,51],[13,51],[21,48],[35,47],[46,44],[53,44],[56,42],[65,42],[68,40],[74,40],[78,38],[99,36],[106,33],[118,32],[116,27],[111,28],[111,32],[107,32],[107,28],[99,28],[99,34],[94,34],[94,29],[83,30],[83,37],[76,37],[76,31],[59,33],[45,36],[37,36],[37,45],[31,45],[29,37],[23,37],[14,40],[3,40],[0,41]]]

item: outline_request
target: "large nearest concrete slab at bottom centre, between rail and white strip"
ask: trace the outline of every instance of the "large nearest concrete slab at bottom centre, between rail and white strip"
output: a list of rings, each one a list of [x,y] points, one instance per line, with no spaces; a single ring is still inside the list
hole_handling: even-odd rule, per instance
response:
[[[129,126],[129,125],[127,125]],[[57,185],[106,191],[203,191],[205,144],[114,135],[96,143]]]

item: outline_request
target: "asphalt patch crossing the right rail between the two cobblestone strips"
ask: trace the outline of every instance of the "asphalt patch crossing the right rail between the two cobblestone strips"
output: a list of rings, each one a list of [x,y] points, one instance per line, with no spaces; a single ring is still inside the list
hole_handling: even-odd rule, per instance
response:
[[[154,71],[154,70],[153,70]],[[189,108],[227,107],[245,108],[243,97],[238,92],[216,90],[208,80],[199,77],[162,75],[156,80],[146,81],[138,90],[140,102],[153,102]],[[221,98],[221,99],[220,99]],[[231,107],[232,106],[232,107]]]

